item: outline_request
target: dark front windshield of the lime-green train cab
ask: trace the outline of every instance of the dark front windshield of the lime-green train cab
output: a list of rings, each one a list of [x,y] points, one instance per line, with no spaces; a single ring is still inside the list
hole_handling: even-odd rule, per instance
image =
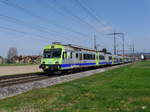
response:
[[[60,58],[62,49],[45,49],[43,53],[44,58]]]

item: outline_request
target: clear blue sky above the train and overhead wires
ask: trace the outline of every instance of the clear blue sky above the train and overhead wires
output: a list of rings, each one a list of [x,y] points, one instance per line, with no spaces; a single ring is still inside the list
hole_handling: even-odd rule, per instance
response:
[[[0,0],[0,55],[7,56],[10,47],[38,54],[53,41],[93,47],[94,34],[99,49],[112,51],[113,39],[106,35],[112,31],[125,33],[126,50],[134,43],[136,51],[149,52],[149,20],[150,0]],[[118,50],[121,44],[118,37]]]

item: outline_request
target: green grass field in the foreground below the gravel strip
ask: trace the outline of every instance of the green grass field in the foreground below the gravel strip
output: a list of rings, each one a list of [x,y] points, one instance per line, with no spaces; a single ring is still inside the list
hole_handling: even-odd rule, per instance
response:
[[[150,61],[0,100],[0,112],[150,112]]]

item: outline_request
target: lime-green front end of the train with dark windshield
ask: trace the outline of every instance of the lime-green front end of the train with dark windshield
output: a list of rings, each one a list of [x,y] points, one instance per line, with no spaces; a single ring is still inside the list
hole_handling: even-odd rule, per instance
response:
[[[63,46],[52,44],[45,46],[43,49],[43,57],[39,68],[45,72],[58,71],[61,69]]]

